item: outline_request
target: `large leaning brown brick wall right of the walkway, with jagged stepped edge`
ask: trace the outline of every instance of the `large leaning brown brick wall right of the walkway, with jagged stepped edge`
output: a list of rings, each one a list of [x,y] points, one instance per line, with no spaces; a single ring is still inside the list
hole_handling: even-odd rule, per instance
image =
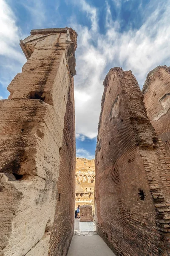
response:
[[[96,146],[97,233],[117,256],[170,255],[170,158],[131,71],[104,81]]]

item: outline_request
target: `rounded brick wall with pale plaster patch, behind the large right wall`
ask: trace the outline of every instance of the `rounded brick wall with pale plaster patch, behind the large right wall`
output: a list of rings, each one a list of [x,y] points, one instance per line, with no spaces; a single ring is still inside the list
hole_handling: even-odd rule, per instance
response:
[[[170,67],[150,71],[142,92],[147,116],[170,156]]]

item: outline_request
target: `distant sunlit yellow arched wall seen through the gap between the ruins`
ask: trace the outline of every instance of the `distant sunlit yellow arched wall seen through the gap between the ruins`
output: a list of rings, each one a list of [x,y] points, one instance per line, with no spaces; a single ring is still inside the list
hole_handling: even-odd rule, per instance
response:
[[[76,205],[92,205],[94,210],[94,159],[76,157]]]

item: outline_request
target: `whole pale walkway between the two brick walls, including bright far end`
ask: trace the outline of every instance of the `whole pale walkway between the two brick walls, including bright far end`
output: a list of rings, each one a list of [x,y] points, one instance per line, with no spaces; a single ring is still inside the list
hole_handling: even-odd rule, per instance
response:
[[[93,222],[75,219],[74,236],[67,256],[115,256],[108,245],[96,233]]]

